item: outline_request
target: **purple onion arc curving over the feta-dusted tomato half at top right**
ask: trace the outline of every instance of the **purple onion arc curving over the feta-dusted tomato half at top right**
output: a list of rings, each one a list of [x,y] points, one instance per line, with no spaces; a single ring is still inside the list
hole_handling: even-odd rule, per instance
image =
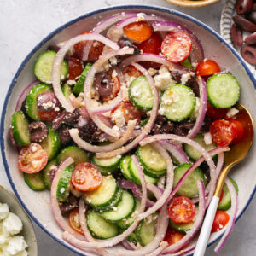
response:
[[[183,32],[187,32],[189,34],[189,37],[192,40],[192,49],[190,52],[190,58],[192,63],[198,63],[204,59],[204,50],[201,45],[201,42],[195,36],[195,34],[189,30],[189,28],[172,21],[165,21],[165,22],[156,21],[156,22],[153,22],[152,26],[154,31],[181,30]]]

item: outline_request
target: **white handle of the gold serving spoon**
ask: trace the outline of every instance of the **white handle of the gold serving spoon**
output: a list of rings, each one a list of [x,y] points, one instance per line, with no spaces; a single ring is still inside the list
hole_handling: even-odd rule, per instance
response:
[[[212,223],[218,207],[218,196],[213,196],[210,206],[207,210],[207,215],[201,227],[201,232],[196,243],[194,256],[203,256],[206,252],[207,242],[212,230]]]

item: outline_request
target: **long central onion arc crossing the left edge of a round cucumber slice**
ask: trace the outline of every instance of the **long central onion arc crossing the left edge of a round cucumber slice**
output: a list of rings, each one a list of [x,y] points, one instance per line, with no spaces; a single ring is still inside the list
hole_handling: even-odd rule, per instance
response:
[[[134,63],[133,66],[136,67],[137,70],[141,71],[146,76],[146,78],[148,79],[148,83],[150,84],[150,88],[153,92],[154,104],[150,113],[150,118],[148,119],[148,123],[143,126],[143,130],[141,131],[140,135],[136,137],[131,143],[127,144],[125,147],[113,150],[108,153],[99,153],[97,155],[97,157],[99,158],[105,158],[105,157],[108,158],[118,154],[125,154],[126,152],[130,151],[132,148],[135,148],[137,144],[141,140],[143,140],[143,138],[146,137],[148,133],[151,131],[154,125],[154,121],[157,117],[158,106],[159,106],[159,96],[158,96],[158,91],[154,87],[154,79],[149,75],[148,71],[141,65]]]

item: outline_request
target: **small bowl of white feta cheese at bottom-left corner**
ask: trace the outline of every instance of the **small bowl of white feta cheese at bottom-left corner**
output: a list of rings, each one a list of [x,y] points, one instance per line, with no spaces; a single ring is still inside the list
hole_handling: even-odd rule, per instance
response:
[[[0,255],[37,256],[38,245],[32,221],[20,202],[0,185]]]

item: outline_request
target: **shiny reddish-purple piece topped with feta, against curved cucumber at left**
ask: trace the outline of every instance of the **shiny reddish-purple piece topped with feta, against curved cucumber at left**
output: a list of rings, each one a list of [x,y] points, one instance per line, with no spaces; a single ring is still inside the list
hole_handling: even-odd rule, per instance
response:
[[[61,103],[55,96],[53,91],[44,92],[37,97],[38,105],[37,108],[43,112],[49,112],[52,110],[60,111]],[[57,109],[56,109],[57,108]]]

